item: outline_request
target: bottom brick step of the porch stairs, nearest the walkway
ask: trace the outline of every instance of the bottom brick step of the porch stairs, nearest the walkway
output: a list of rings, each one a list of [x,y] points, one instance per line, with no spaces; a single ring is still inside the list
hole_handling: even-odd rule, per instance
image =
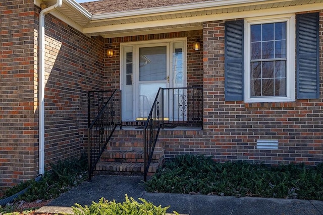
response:
[[[153,175],[159,167],[159,163],[150,163],[147,175]],[[124,162],[98,162],[95,174],[118,174],[118,175],[143,175],[143,163]]]

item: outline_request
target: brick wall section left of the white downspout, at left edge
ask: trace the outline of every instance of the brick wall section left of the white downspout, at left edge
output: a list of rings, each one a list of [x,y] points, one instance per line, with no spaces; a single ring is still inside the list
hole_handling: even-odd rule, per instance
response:
[[[0,2],[0,187],[37,174],[34,1]]]

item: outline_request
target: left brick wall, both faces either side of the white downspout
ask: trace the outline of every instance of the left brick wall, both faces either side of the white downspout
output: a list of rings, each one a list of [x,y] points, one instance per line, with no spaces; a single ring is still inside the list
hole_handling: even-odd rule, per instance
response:
[[[38,23],[34,0],[0,2],[0,187],[38,173]],[[45,18],[45,165],[84,153],[87,92],[102,90],[104,39]],[[86,137],[85,137],[86,138]]]

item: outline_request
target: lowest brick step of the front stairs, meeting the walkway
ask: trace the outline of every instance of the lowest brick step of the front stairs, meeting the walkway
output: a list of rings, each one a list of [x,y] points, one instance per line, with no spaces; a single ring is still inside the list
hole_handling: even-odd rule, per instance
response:
[[[148,172],[155,173],[159,167],[158,163],[150,163]],[[106,172],[129,172],[129,173],[143,173],[143,163],[124,163],[124,162],[98,162],[96,164],[96,171]]]

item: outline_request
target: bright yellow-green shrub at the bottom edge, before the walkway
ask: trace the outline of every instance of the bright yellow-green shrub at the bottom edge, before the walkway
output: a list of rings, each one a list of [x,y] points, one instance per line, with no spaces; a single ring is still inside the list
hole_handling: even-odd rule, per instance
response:
[[[98,203],[92,202],[90,206],[85,205],[84,207],[80,204],[73,206],[73,212],[75,215],[139,215],[139,214],[166,214],[166,210],[170,207],[161,207],[153,205],[151,202],[139,198],[143,203],[138,203],[132,197],[128,197],[126,194],[126,200],[124,202],[117,203],[114,201],[107,201],[101,198]],[[175,214],[178,214],[174,211]]]

